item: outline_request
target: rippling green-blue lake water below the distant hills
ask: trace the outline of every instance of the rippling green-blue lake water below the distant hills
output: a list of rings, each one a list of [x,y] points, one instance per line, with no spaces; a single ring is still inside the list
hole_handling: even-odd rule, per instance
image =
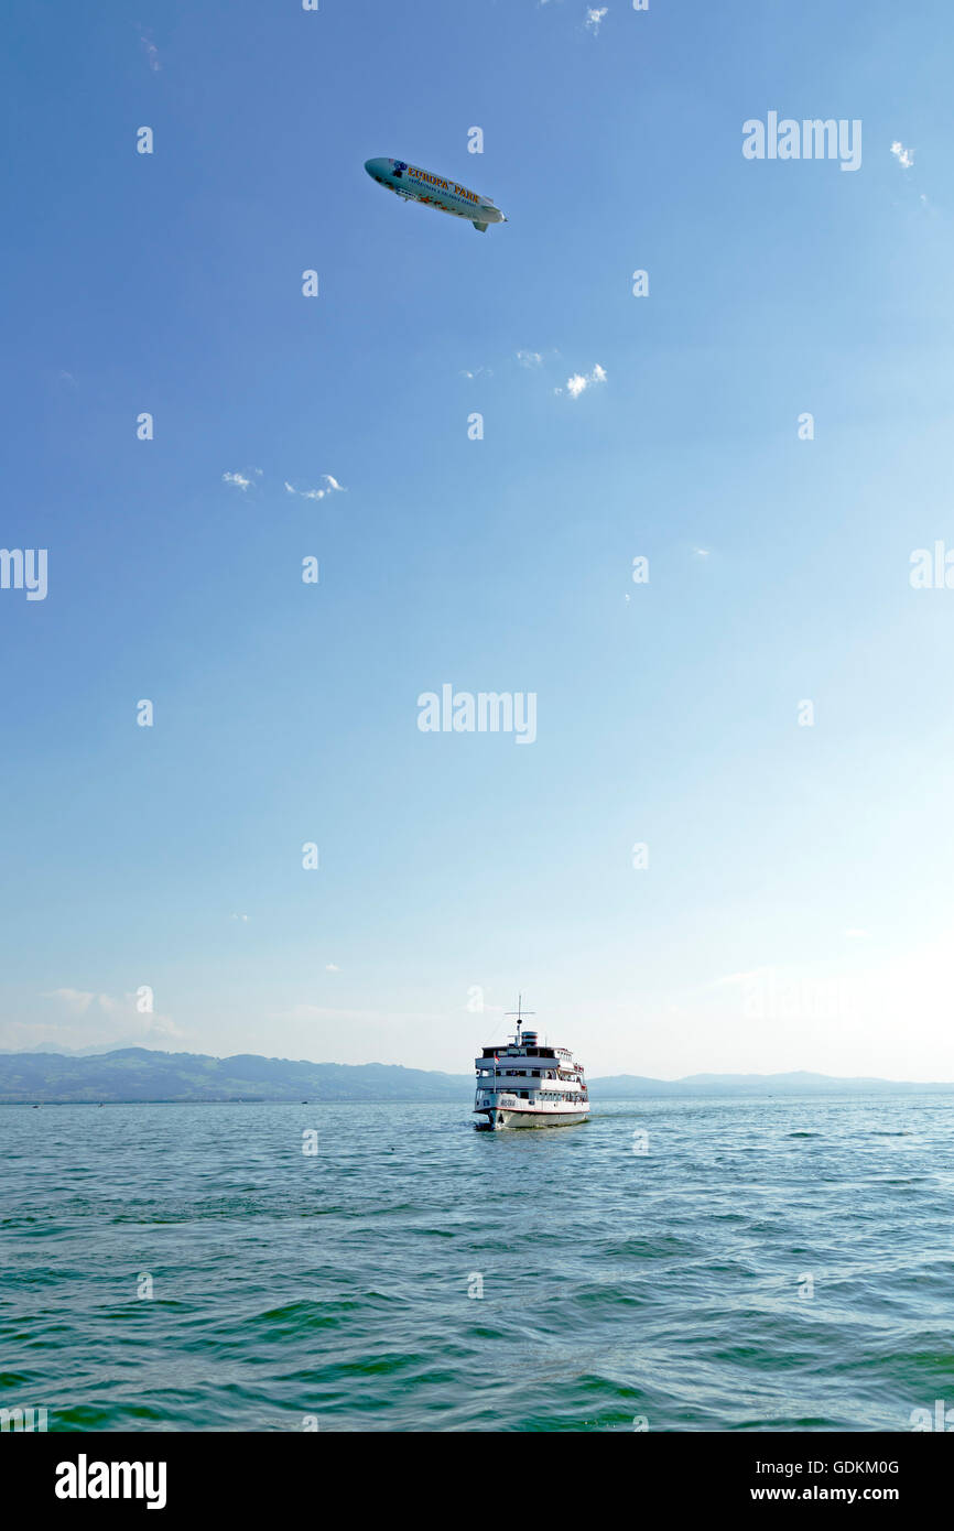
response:
[[[496,1134],[469,1102],[3,1107],[0,1402],[51,1430],[908,1430],[954,1405],[952,1128],[940,1096]]]

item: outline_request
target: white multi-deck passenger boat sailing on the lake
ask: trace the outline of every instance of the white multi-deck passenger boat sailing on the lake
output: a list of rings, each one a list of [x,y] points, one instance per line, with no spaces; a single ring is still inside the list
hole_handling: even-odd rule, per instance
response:
[[[542,1044],[537,1032],[524,1029],[522,995],[518,998],[516,1035],[507,1046],[484,1047],[475,1059],[478,1087],[473,1110],[485,1121],[478,1125],[571,1127],[590,1115],[590,1096],[582,1063],[567,1047]],[[533,1010],[525,1014],[533,1015]]]

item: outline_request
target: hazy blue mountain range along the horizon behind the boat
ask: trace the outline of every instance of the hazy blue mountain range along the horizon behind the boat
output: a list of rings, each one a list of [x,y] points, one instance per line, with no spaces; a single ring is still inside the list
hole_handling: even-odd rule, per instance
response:
[[[0,1104],[100,1101],[467,1101],[472,1075],[397,1064],[305,1063],[237,1053],[167,1053],[121,1047],[106,1053],[0,1053]],[[954,1084],[836,1079],[824,1073],[694,1073],[646,1079],[617,1073],[591,1079],[594,1101],[698,1095],[844,1095],[952,1092]]]

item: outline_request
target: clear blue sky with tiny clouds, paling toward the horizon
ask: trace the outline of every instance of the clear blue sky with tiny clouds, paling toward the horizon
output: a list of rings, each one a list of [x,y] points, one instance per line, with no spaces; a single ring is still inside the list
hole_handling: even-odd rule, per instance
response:
[[[5,31],[0,1047],[954,1079],[948,0]]]

